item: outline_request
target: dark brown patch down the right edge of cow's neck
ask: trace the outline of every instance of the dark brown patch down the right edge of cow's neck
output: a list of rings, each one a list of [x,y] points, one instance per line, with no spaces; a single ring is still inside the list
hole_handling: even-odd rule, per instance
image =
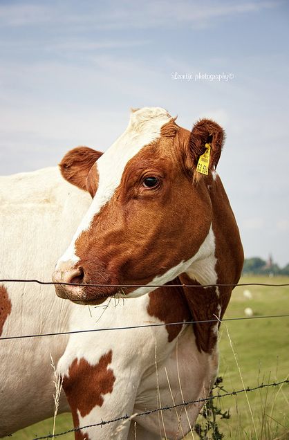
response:
[[[237,284],[244,260],[239,228],[221,179],[217,176],[216,181],[213,181],[212,176],[209,176],[208,183],[213,213],[212,229],[215,236],[216,284]],[[180,275],[180,281],[184,284],[198,284],[186,274]],[[215,320],[216,316],[222,319],[232,290],[233,287],[230,286],[219,286],[217,290],[216,287],[183,288],[189,309],[197,321]],[[221,306],[220,311],[218,306]],[[212,351],[217,342],[216,322],[193,324],[193,327],[198,349]]]

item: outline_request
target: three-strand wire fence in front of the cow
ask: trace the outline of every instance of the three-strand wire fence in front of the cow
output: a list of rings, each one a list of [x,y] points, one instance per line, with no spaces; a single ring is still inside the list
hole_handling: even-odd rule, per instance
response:
[[[39,279],[0,279],[0,282],[23,282],[23,283],[37,283],[42,285],[55,285],[55,284],[62,284],[62,285],[76,285],[76,286],[82,286],[82,284],[77,283],[62,283],[62,282],[41,282]],[[124,284],[124,285],[111,285],[111,284],[88,284],[88,286],[93,287],[118,287],[118,288],[129,288],[129,287],[148,287],[147,285],[143,284]],[[204,287],[220,287],[220,286],[230,286],[230,287],[236,287],[236,286],[267,286],[267,287],[281,287],[281,286],[289,286],[289,283],[284,284],[265,284],[265,283],[240,283],[240,284],[207,284],[207,285],[200,285],[200,284],[168,284],[165,285],[166,288],[171,287],[196,287],[196,288],[204,288]],[[149,288],[159,288],[164,287],[162,285],[153,285],[149,286]],[[256,320],[256,319],[271,319],[271,318],[289,318],[288,314],[281,314],[281,315],[261,315],[261,316],[252,316],[252,317],[236,317],[236,318],[225,318],[222,320],[214,319],[214,320],[201,320],[201,321],[186,321],[185,324],[201,324],[201,323],[207,323],[207,322],[226,322],[226,321],[239,321],[239,320]],[[76,331],[63,331],[63,332],[55,332],[55,333],[40,333],[40,334],[30,334],[30,335],[18,335],[18,336],[5,336],[3,338],[0,338],[0,340],[13,340],[13,339],[23,339],[23,338],[39,338],[44,336],[59,336],[59,335],[67,335],[72,333],[88,333],[88,332],[97,332],[97,331],[120,331],[124,329],[140,329],[145,327],[161,327],[161,326],[168,326],[168,325],[180,325],[184,324],[184,322],[170,322],[170,323],[158,323],[158,324],[140,324],[136,326],[127,326],[127,327],[109,327],[109,328],[103,328],[103,329],[86,329],[86,330],[76,330]],[[183,401],[183,403],[178,403],[176,405],[165,405],[164,407],[155,408],[154,410],[147,410],[145,412],[141,412],[138,414],[125,414],[123,416],[120,416],[115,419],[111,419],[109,421],[100,421],[99,423],[93,423],[91,425],[85,425],[85,426],[79,426],[77,428],[72,428],[70,430],[66,430],[64,432],[58,432],[56,434],[47,434],[43,437],[35,437],[33,440],[44,440],[44,439],[51,439],[55,437],[61,437],[64,434],[68,434],[71,432],[79,432],[80,430],[87,430],[89,428],[93,428],[96,426],[103,426],[107,425],[109,423],[115,423],[118,421],[125,421],[129,419],[135,419],[136,417],[141,416],[147,416],[149,414],[153,414],[156,412],[162,412],[167,410],[173,410],[176,407],[186,407],[187,405],[197,404],[197,403],[206,403],[209,401],[213,401],[214,399],[218,398],[224,398],[227,396],[236,396],[237,394],[241,394],[243,392],[253,392],[257,389],[262,388],[269,388],[269,387],[277,387],[284,384],[289,384],[289,379],[285,379],[284,381],[279,382],[273,382],[273,383],[261,383],[261,385],[258,385],[257,387],[247,387],[239,390],[234,390],[232,392],[224,392],[223,394],[217,394],[215,396],[209,396],[207,398],[201,398],[196,401]]]

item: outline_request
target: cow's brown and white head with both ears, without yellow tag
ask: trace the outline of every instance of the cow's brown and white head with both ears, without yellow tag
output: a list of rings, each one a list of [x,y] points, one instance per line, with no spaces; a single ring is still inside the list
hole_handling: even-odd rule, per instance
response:
[[[127,130],[104,154],[85,147],[68,152],[62,175],[90,192],[93,201],[57,262],[54,281],[153,285],[186,271],[212,220],[207,189],[212,172],[196,172],[207,142],[212,143],[211,170],[221,154],[221,127],[201,120],[191,133],[164,109],[145,108],[133,111]],[[100,304],[119,290],[56,286],[57,295],[82,304]]]

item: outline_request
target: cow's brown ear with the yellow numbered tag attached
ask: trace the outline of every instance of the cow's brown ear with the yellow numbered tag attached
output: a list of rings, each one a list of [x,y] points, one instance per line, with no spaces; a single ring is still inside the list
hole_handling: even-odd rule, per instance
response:
[[[225,131],[216,122],[210,119],[201,119],[196,122],[189,136],[189,157],[192,161],[191,166],[193,167],[195,181],[206,174],[200,172],[202,169],[205,170],[203,165],[206,164],[206,159],[209,159],[207,161],[208,171],[216,169],[224,141]],[[206,144],[209,144],[209,149]],[[204,153],[207,154],[202,156]]]

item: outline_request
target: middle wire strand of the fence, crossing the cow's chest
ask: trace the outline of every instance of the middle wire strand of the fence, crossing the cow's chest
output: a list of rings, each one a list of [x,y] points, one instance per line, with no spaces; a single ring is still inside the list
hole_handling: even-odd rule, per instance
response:
[[[17,335],[17,336],[4,336],[0,340],[11,340],[11,339],[25,339],[25,338],[41,338],[43,336],[61,336],[61,335],[71,335],[75,333],[92,333],[94,331],[113,331],[113,330],[130,330],[130,329],[143,329],[146,327],[167,327],[168,325],[184,325],[184,324],[205,324],[209,322],[225,322],[225,321],[242,321],[242,320],[259,320],[259,319],[271,319],[271,318],[289,318],[289,314],[283,315],[261,315],[261,316],[241,316],[237,318],[224,318],[223,320],[201,320],[201,321],[178,321],[178,322],[160,322],[155,324],[140,324],[140,325],[129,325],[126,327],[106,327],[102,329],[86,329],[86,330],[71,330],[71,331],[57,331],[55,333],[35,333],[31,335]]]

